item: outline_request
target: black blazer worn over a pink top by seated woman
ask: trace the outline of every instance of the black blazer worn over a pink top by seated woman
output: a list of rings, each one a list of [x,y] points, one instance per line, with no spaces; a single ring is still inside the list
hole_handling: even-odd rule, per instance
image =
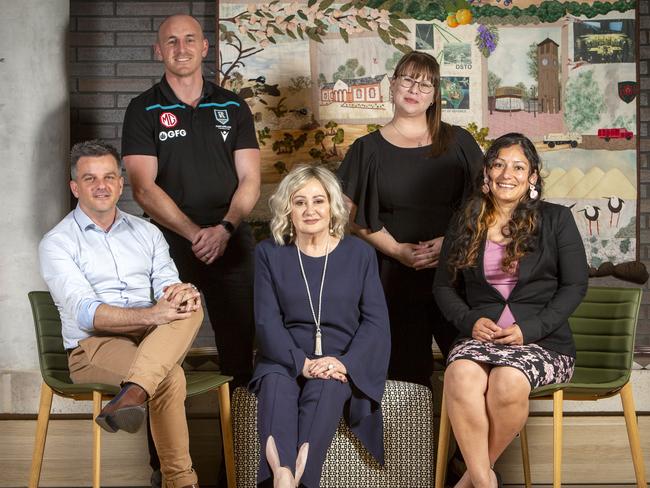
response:
[[[483,273],[485,243],[479,266],[459,273],[450,282],[447,254],[454,231],[445,237],[434,282],[434,295],[444,316],[460,331],[458,339],[472,336],[481,317],[497,321],[506,304],[524,336],[524,344],[575,357],[568,318],[587,292],[588,265],[582,238],[571,211],[542,202],[537,250],[519,261],[519,279],[508,300],[490,285]]]

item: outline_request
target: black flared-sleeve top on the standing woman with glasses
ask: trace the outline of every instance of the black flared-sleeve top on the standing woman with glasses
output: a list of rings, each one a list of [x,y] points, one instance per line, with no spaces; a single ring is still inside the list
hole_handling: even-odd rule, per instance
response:
[[[469,132],[454,126],[453,133],[436,158],[431,146],[398,147],[380,131],[357,139],[338,170],[343,192],[357,206],[354,222],[372,232],[385,227],[397,242],[443,236],[483,160]]]

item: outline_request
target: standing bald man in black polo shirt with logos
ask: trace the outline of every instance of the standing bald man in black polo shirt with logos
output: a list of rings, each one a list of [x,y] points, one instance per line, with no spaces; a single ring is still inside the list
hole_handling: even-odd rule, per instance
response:
[[[260,155],[248,105],[204,79],[208,42],[188,15],[165,19],[160,83],[133,99],[122,153],[135,200],[160,227],[183,280],[203,292],[221,370],[233,387],[252,373],[253,248]]]

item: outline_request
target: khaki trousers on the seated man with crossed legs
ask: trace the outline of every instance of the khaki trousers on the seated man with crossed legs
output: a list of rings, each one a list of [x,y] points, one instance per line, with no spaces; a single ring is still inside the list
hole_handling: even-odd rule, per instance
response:
[[[68,358],[75,383],[132,382],[149,394],[151,435],[168,488],[198,483],[185,418],[185,374],[180,364],[201,327],[203,310],[156,327],[141,338],[93,336]]]

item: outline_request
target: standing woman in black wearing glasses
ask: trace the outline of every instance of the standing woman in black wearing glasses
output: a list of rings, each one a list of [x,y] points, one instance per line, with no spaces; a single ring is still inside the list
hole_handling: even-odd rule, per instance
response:
[[[388,377],[431,386],[431,336],[447,354],[455,335],[432,294],[449,220],[471,193],[483,154],[441,120],[440,66],[413,51],[395,68],[393,119],[355,141],[338,171],[350,227],[378,251],[391,323]]]

